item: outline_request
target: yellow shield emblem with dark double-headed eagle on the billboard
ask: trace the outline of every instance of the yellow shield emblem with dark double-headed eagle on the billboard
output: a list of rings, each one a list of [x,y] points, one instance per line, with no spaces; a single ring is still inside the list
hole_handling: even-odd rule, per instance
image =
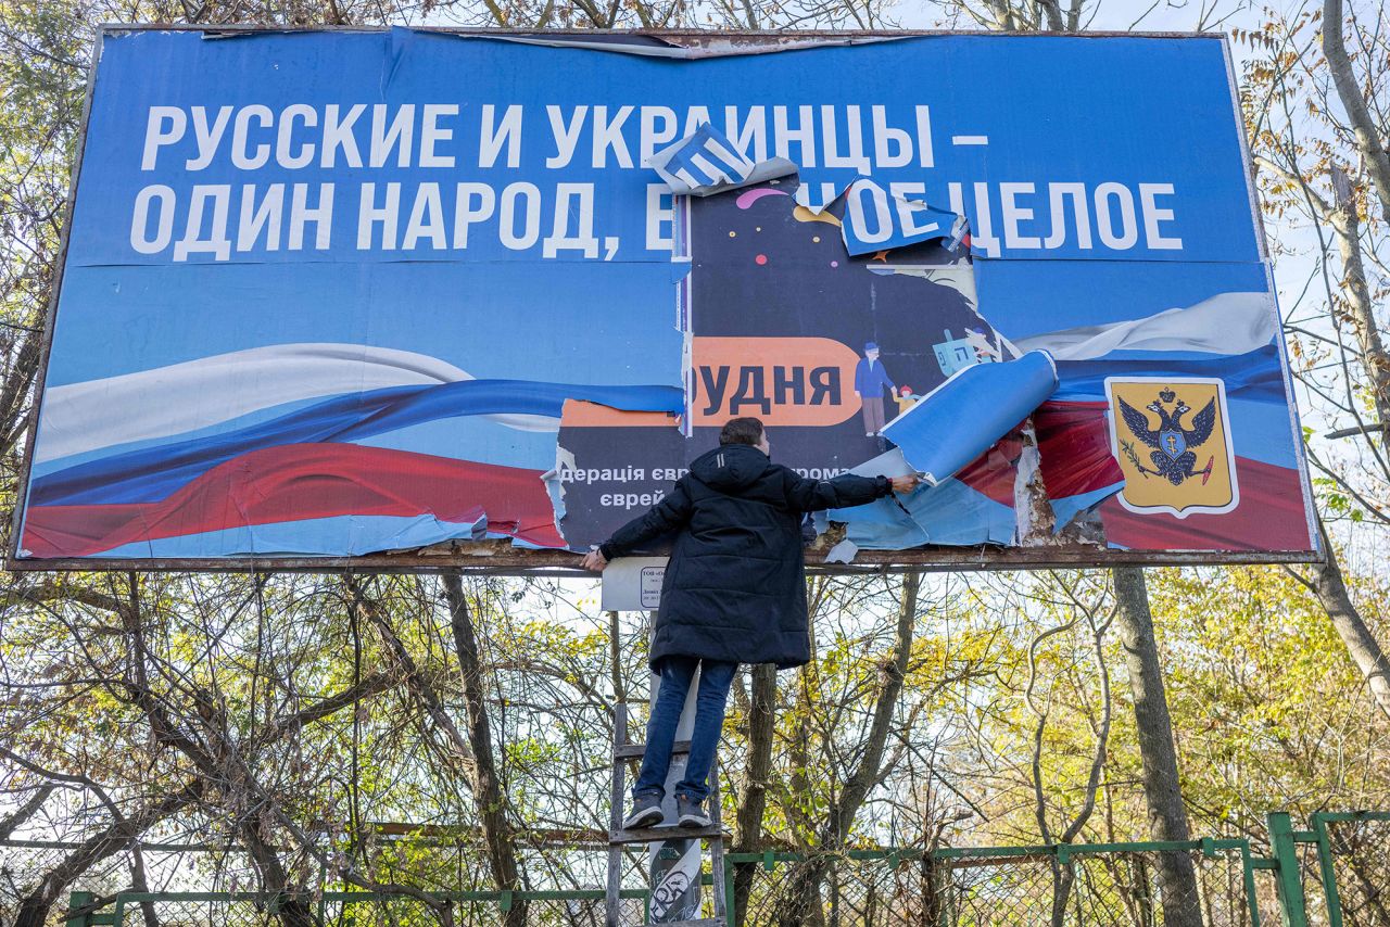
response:
[[[1219,379],[1111,377],[1111,450],[1130,511],[1230,511],[1240,502],[1226,388]]]

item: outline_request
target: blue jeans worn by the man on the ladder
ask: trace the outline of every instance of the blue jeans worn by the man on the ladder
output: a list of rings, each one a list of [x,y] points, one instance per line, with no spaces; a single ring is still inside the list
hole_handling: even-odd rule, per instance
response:
[[[728,687],[734,682],[737,663],[719,663],[691,656],[669,656],[662,659],[662,684],[656,692],[656,705],[646,723],[646,753],[642,756],[642,771],[632,785],[632,798],[645,795],[666,795],[666,774],[671,766],[671,746],[676,744],[676,724],[685,707],[695,667],[701,668],[699,691],[695,695],[695,730],[691,731],[691,755],[685,763],[685,778],[676,785],[676,794],[691,801],[703,802],[709,795],[709,770],[714,766],[714,750],[719,734],[724,727],[724,703],[728,700]]]

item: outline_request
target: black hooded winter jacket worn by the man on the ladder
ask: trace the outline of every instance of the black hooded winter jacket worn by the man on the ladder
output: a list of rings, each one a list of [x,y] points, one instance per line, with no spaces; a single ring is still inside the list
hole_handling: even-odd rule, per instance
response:
[[[806,479],[749,445],[695,459],[651,511],[599,550],[613,559],[676,534],[651,666],[670,655],[733,663],[810,660],[801,523],[892,492],[887,477]]]

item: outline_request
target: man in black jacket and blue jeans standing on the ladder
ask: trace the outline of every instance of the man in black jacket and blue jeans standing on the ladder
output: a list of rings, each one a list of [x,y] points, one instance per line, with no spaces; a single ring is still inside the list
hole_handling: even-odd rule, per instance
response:
[[[808,511],[909,492],[916,477],[803,479],[770,460],[763,423],[731,418],[719,448],[696,457],[689,474],[651,511],[619,528],[584,557],[587,570],[676,532],[666,567],[649,663],[662,682],[646,724],[646,755],[623,827],[662,821],[676,723],[699,667],[695,730],[685,778],[676,787],[677,823],[709,827],[706,778],[739,663],[778,668],[810,660],[801,523]]]

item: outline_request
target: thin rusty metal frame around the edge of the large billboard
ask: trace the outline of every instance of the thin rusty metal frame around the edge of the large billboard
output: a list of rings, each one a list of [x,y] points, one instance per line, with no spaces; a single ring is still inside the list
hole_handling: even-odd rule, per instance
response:
[[[150,571],[150,573],[485,573],[495,575],[592,575],[578,566],[581,555],[569,550],[546,550],[514,548],[510,541],[482,541],[456,542],[445,548],[438,545],[430,549],[417,549],[402,553],[374,553],[354,557],[334,556],[247,556],[235,557],[19,557],[19,530],[22,513],[26,509],[31,471],[33,467],[33,446],[38,439],[38,424],[42,411],[44,381],[49,371],[49,356],[53,349],[53,331],[57,317],[58,299],[63,289],[63,278],[67,271],[68,239],[72,229],[72,215],[76,206],[78,181],[82,175],[82,160],[86,151],[88,125],[92,114],[92,97],[96,88],[97,65],[101,60],[101,49],[107,35],[124,35],[131,32],[197,32],[210,38],[234,38],[239,35],[284,35],[284,33],[382,33],[388,29],[378,26],[322,26],[311,29],[267,28],[257,25],[172,25],[172,24],[121,24],[106,22],[96,28],[92,43],[92,60],[88,64],[88,82],[82,101],[82,125],[78,131],[78,149],[72,163],[72,179],[68,186],[67,204],[64,207],[64,224],[58,242],[58,259],[54,267],[53,285],[49,293],[49,306],[44,313],[43,343],[39,356],[39,370],[35,375],[33,407],[29,413],[29,428],[25,436],[24,457],[19,467],[19,484],[15,493],[15,506],[10,517],[10,542],[4,552],[4,567],[21,573],[46,571]],[[734,46],[746,43],[749,53],[755,46],[790,46],[803,47],[802,43],[810,40],[840,40],[853,44],[855,40],[876,42],[898,38],[931,38],[931,36],[1012,36],[1037,40],[1047,39],[1208,39],[1220,42],[1226,61],[1226,81],[1233,104],[1233,118],[1240,129],[1240,154],[1245,168],[1245,188],[1251,210],[1251,222],[1255,227],[1259,246],[1259,260],[1264,261],[1266,275],[1273,290],[1273,274],[1269,267],[1269,245],[1265,233],[1264,218],[1259,213],[1257,192],[1254,186],[1254,168],[1250,156],[1250,139],[1245,132],[1245,121],[1240,113],[1240,95],[1236,85],[1236,72],[1230,54],[1230,40],[1223,32],[1015,32],[988,29],[853,29],[827,31],[808,29],[795,33],[769,31],[738,31],[738,32],[709,32],[699,29],[478,29],[478,28],[427,28],[423,32],[436,32],[442,35],[475,36],[475,38],[532,38],[532,39],[580,39],[589,36],[639,36],[666,40],[673,46],[699,47],[712,42]],[[737,53],[737,51],[733,51]],[[1293,384],[1290,382],[1287,346],[1280,335],[1277,339],[1280,361],[1284,374],[1284,386],[1293,399]],[[1300,435],[1298,409],[1290,403],[1293,418],[1293,434]],[[1298,450],[1298,477],[1304,486],[1305,516],[1308,518],[1309,536],[1315,542],[1320,538],[1315,511],[1312,507],[1312,486],[1308,474],[1308,460]],[[827,574],[856,574],[856,573],[905,573],[905,571],[991,571],[991,570],[1051,570],[1051,568],[1087,568],[1109,566],[1254,566],[1275,563],[1320,563],[1325,552],[1319,550],[1125,550],[1104,548],[1099,545],[1083,543],[1047,543],[1036,546],[922,546],[906,550],[860,550],[852,564],[824,563],[824,553],[828,545],[813,545],[806,552],[806,566],[810,573]],[[430,552],[425,552],[430,550]]]

